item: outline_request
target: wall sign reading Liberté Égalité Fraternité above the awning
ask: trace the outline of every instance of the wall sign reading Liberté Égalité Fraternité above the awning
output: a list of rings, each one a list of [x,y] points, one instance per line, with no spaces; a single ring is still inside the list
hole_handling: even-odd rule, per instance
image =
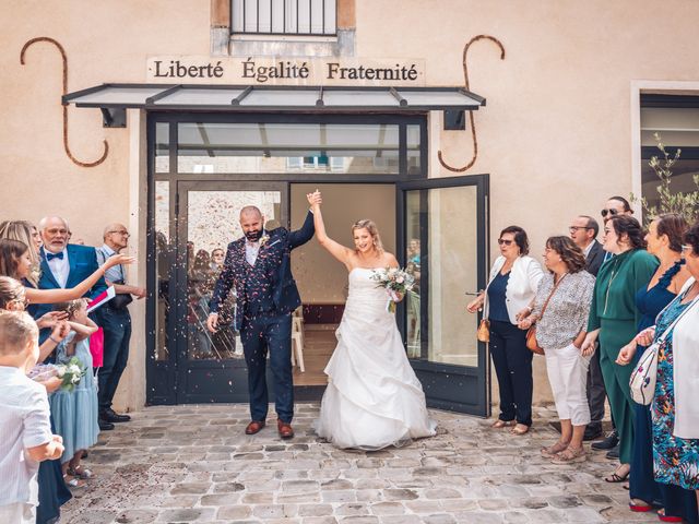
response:
[[[151,57],[147,82],[167,84],[424,86],[424,60]]]

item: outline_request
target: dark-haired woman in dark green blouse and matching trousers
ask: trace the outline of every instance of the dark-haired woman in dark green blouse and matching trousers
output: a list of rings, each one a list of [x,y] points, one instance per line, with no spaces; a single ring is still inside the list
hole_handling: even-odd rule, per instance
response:
[[[619,366],[619,349],[636,336],[641,313],[636,291],[648,286],[659,262],[645,251],[641,225],[629,215],[614,215],[604,225],[604,250],[614,257],[597,273],[583,355],[592,355],[600,342],[600,367],[612,416],[619,432],[620,465],[605,480],[621,483],[630,471],[633,448],[633,408],[629,391],[631,366]]]

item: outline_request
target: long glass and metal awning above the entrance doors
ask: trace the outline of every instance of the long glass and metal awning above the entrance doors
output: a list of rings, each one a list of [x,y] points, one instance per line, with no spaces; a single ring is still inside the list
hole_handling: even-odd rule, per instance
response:
[[[63,96],[64,105],[205,111],[471,111],[485,98],[462,87],[323,87],[198,84],[103,84]]]

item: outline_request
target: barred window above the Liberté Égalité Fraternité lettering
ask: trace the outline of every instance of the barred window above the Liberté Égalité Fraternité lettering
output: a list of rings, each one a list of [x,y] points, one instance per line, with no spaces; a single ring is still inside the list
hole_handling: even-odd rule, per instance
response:
[[[237,35],[334,36],[336,0],[230,0]]]

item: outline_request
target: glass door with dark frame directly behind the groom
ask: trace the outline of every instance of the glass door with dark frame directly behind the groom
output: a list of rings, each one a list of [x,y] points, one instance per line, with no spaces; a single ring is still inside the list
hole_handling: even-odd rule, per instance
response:
[[[213,334],[206,329],[209,301],[228,243],[242,236],[240,210],[256,205],[265,227],[285,225],[286,186],[179,182],[178,199],[178,402],[241,402],[247,400],[247,373],[240,336],[233,327],[235,289]]]

